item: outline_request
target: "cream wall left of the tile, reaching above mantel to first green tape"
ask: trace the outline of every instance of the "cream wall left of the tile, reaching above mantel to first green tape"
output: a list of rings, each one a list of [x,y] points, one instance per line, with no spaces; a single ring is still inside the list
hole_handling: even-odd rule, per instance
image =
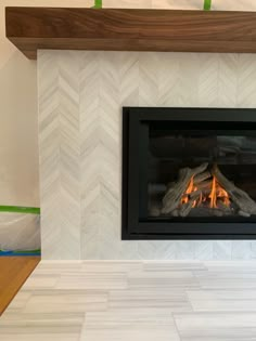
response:
[[[93,0],[0,1],[0,205],[40,205],[37,66],[5,38],[4,8],[92,4]]]

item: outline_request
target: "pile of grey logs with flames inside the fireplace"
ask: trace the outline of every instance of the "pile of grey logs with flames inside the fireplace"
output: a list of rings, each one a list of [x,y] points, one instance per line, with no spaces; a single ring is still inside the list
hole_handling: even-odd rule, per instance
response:
[[[209,207],[209,198],[213,180],[228,194],[230,205],[225,204],[225,199],[217,198],[215,207]],[[193,191],[188,193],[188,188],[193,183]],[[192,212],[194,210],[194,212]],[[163,206],[159,214],[172,217],[195,215],[242,215],[251,217],[256,214],[256,202],[247,193],[236,187],[219,170],[217,165],[209,167],[202,163],[195,168],[182,168],[179,171],[177,182],[167,185],[163,198]]]

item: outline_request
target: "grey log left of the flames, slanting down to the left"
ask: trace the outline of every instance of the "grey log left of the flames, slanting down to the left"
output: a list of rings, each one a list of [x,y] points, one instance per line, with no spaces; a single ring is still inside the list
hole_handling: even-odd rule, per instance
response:
[[[193,169],[182,168],[179,171],[178,181],[171,187],[168,187],[163,198],[162,208],[163,214],[171,213],[175,209],[178,208],[178,206],[180,205],[180,200],[183,194],[185,193],[191,179],[204,172],[207,167],[208,163],[202,163],[201,166],[195,167]]]

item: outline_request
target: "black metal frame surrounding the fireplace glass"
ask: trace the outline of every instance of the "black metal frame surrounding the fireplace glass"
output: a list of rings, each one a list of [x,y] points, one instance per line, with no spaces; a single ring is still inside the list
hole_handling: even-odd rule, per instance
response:
[[[143,165],[146,143],[141,122],[185,122],[201,129],[229,129],[256,135],[256,109],[144,108],[123,109],[121,239],[256,239],[256,215],[249,219],[154,219],[140,217],[139,188],[146,185]],[[255,174],[256,178],[256,174]]]

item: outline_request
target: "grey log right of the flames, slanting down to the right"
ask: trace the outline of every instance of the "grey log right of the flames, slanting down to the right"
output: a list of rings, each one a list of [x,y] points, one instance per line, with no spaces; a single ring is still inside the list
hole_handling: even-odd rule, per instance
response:
[[[244,191],[236,187],[219,170],[217,166],[212,169],[213,175],[218,183],[228,192],[231,200],[240,208],[243,213],[256,214],[256,202]]]

